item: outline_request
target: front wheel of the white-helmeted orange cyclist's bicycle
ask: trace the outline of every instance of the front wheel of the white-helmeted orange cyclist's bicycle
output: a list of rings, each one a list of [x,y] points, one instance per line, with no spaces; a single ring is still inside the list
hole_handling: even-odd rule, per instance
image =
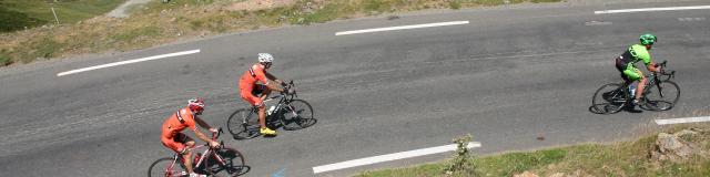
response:
[[[286,131],[302,129],[316,123],[313,116],[313,106],[308,102],[292,100],[282,110],[281,123]]]

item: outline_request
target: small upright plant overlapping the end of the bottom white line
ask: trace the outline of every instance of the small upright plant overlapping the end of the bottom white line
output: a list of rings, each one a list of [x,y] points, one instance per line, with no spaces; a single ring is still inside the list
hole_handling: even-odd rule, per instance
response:
[[[466,147],[470,140],[470,134],[454,138],[456,153],[444,166],[444,173],[447,176],[477,176],[474,167],[474,155]]]

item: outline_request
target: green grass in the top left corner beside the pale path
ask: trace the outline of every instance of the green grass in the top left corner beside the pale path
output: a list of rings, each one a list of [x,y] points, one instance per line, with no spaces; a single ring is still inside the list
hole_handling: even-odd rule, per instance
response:
[[[75,23],[113,10],[125,0],[1,0],[0,32],[22,30],[47,23]]]

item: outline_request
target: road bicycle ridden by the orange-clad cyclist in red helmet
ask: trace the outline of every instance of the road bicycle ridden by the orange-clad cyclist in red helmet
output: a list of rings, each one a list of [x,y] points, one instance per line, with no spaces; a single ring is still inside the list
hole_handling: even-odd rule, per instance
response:
[[[222,128],[212,133],[212,140],[217,140],[222,134]],[[202,153],[196,153],[193,163],[193,170],[201,174],[209,174],[214,177],[234,177],[248,171],[244,165],[244,156],[234,148],[225,147],[220,140],[219,147],[210,147],[207,144],[197,145],[190,150],[207,147]],[[175,153],[173,157],[164,157],[155,160],[148,169],[148,177],[187,177],[187,170],[182,159],[182,155]]]

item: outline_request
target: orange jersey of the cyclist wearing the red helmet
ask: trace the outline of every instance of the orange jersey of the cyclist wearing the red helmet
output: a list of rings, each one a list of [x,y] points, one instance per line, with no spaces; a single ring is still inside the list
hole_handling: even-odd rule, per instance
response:
[[[163,133],[162,138],[164,139],[173,139],[178,133],[182,132],[186,127],[190,129],[197,129],[195,126],[194,113],[190,111],[190,108],[181,108],[176,113],[173,113],[165,122],[163,123]]]

